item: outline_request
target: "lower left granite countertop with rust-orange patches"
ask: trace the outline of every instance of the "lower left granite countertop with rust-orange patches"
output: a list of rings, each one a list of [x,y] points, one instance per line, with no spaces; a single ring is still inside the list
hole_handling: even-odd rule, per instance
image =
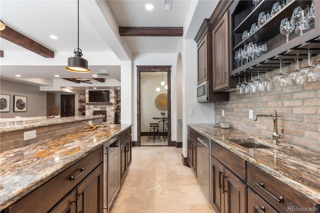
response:
[[[110,124],[108,128],[74,132],[1,152],[0,210],[130,126]]]

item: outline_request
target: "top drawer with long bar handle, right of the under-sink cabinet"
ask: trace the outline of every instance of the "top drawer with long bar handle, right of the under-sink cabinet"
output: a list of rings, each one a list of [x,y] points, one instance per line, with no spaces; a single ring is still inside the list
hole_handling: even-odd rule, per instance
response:
[[[289,211],[290,206],[316,207],[315,202],[251,163],[247,163],[247,184],[280,212]]]

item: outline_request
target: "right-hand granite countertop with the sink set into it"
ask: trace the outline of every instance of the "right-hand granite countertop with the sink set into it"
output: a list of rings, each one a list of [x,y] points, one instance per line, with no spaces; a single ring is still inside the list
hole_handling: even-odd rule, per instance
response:
[[[320,203],[320,152],[270,137],[259,136],[232,128],[220,128],[208,123],[187,124],[217,144],[237,154],[276,179],[310,199]],[[228,138],[255,138],[271,148],[245,148]]]

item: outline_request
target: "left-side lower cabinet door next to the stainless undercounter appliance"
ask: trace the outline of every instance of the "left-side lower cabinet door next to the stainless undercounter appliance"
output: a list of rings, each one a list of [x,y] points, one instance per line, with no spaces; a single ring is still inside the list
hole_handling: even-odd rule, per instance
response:
[[[77,211],[102,213],[102,163],[77,186]]]

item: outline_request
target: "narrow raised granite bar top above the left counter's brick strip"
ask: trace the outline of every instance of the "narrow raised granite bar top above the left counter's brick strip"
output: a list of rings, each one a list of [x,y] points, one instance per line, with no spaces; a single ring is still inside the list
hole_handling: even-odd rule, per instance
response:
[[[46,119],[32,119],[32,120],[17,120],[17,121],[4,121],[0,122],[0,131],[15,131],[26,128],[40,127],[46,125],[54,125],[60,123],[88,120],[102,117],[102,115],[78,115],[68,117],[56,117]]]

